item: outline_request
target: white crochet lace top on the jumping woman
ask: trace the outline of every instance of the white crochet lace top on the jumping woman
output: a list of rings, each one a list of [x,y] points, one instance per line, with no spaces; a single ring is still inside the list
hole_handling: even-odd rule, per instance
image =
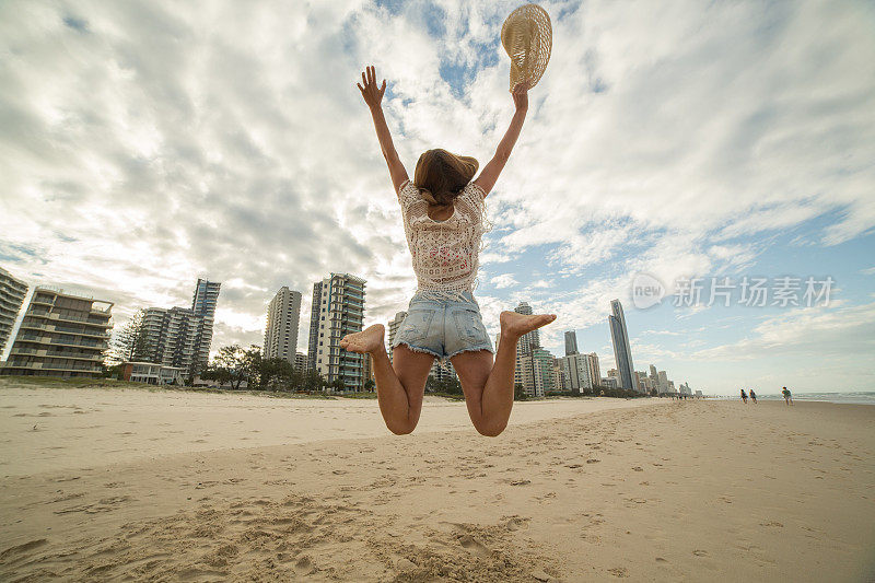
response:
[[[454,201],[452,217],[435,221],[419,188],[410,180],[401,185],[398,201],[420,291],[474,291],[481,237],[490,229],[485,197],[482,188],[468,183]]]

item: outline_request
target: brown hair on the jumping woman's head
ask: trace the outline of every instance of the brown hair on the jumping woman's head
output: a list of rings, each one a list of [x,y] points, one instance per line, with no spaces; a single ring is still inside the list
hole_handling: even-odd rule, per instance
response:
[[[447,207],[471,182],[479,166],[471,156],[441,149],[428,150],[419,156],[413,184],[429,205]]]

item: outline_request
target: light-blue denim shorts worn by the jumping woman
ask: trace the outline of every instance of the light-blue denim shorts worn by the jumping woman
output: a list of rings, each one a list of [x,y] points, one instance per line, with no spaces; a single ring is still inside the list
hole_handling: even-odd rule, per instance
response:
[[[460,292],[457,300],[462,301],[429,292],[413,294],[392,348],[406,345],[415,352],[428,352],[440,359],[470,350],[494,352],[474,294]]]

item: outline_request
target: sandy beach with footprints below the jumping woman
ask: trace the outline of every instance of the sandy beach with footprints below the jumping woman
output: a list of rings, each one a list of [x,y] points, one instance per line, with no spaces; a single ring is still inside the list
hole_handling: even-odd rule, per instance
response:
[[[3,581],[867,581],[875,407],[0,388]],[[36,428],[36,429],[34,429]]]

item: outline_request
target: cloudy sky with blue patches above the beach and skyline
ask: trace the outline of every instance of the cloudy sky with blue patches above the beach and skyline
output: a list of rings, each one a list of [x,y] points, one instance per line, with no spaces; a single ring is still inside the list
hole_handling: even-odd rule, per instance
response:
[[[365,65],[412,174],[488,161],[512,115],[517,2],[0,3],[0,266],[138,307],[222,282],[213,349],[259,343],[282,285],[368,280],[366,324],[416,288],[355,88]],[[528,301],[542,339],[705,393],[875,389],[875,4],[544,2],[553,53],[487,199],[488,329]],[[645,272],[669,294],[637,310]],[[828,305],[675,306],[680,278],[827,277]],[[803,283],[804,288],[804,283]]]

